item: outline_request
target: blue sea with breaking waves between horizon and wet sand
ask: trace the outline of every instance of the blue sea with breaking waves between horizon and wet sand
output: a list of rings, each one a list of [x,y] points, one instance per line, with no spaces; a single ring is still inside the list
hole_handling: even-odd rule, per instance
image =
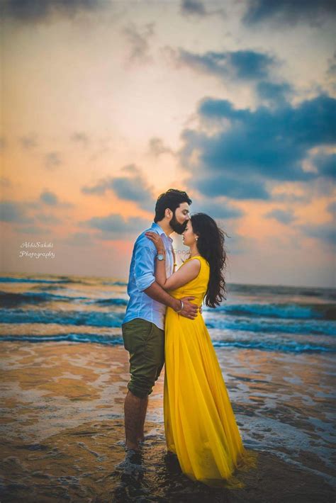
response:
[[[1,340],[122,344],[124,281],[79,276],[0,278]],[[203,307],[215,347],[336,351],[336,290],[229,284],[216,309]]]

